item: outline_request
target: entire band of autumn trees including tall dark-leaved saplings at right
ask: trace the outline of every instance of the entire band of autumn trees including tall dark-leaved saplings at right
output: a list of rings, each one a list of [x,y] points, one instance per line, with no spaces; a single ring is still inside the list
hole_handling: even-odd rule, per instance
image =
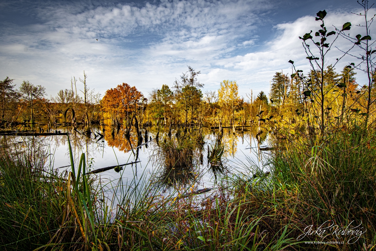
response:
[[[365,15],[367,12],[365,13]],[[303,48],[311,70],[303,73],[292,64],[292,74],[276,72],[270,86],[269,97],[261,91],[257,97],[247,95],[245,101],[238,94],[236,81],[223,80],[220,88],[202,93],[203,84],[197,79],[200,71],[188,66],[170,86],[162,85],[153,89],[149,96],[137,90],[135,86],[123,83],[106,91],[102,97],[90,90],[86,83],[86,74],[79,78],[83,90],[77,91],[77,79],[71,80],[70,89],[60,90],[56,97],[46,98],[45,88],[24,81],[15,89],[12,79],[0,81],[0,116],[3,127],[17,123],[35,123],[35,118],[47,118],[52,124],[64,122],[72,125],[98,124],[109,119],[117,127],[130,128],[136,124],[150,124],[153,119],[163,120],[166,124],[175,125],[246,125],[250,123],[267,124],[269,130],[288,129],[305,131],[313,137],[325,131],[356,122],[367,126],[374,122],[376,101],[374,77],[376,74],[374,55],[371,50],[374,42],[370,42],[369,31],[364,36],[355,38],[345,32],[350,30],[351,23],[328,31],[324,24],[326,11],[317,13],[316,21],[320,28],[315,32],[315,41],[311,32],[302,40]],[[367,21],[370,24],[371,21]],[[332,44],[327,43],[333,37]],[[349,63],[337,72],[338,62],[329,62],[326,57],[333,43],[339,37],[352,41],[353,45],[344,55],[352,56],[357,63]],[[315,38],[316,39],[316,38]],[[309,47],[311,46],[311,47]],[[364,55],[355,56],[349,52],[355,47],[364,51]],[[341,49],[339,49],[342,51]],[[358,83],[355,69],[368,76],[368,83]],[[79,95],[79,92],[82,95]],[[60,120],[59,120],[60,119]]]

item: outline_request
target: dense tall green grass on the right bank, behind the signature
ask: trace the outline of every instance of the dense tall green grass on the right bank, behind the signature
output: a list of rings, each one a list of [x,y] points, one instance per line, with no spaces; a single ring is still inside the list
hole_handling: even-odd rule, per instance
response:
[[[290,224],[288,236],[302,250],[374,250],[374,131],[340,128],[314,142],[314,147],[300,135],[278,141],[274,147],[273,174],[238,181],[235,198],[243,196],[250,202],[244,209],[247,214],[268,215],[263,226],[272,236]],[[325,231],[305,235],[310,225],[312,230]],[[346,227],[365,233],[343,232]],[[309,240],[340,243],[304,243]]]

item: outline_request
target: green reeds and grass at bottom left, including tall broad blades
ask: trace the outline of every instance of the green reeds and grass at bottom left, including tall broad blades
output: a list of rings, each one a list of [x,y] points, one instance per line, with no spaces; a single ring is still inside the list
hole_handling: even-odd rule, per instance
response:
[[[85,155],[59,174],[43,151],[0,157],[0,249],[103,250],[102,195],[86,174]],[[76,166],[77,167],[77,166]],[[77,171],[77,172],[76,172]]]

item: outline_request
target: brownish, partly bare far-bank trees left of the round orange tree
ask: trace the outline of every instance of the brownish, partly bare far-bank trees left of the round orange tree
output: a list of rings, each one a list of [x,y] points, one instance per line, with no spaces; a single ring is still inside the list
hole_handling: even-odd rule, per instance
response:
[[[77,79],[73,78],[70,89],[60,90],[56,97],[48,99],[45,87],[23,81],[15,88],[14,79],[6,77],[0,81],[2,127],[33,125],[36,119],[48,119],[52,125],[62,120],[73,124],[99,123],[102,119],[101,96],[89,90],[86,78],[85,73],[83,79],[79,78],[83,84],[83,97],[77,94]]]

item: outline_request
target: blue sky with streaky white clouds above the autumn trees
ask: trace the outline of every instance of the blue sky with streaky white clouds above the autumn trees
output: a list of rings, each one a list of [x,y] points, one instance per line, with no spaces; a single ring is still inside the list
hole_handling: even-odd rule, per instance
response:
[[[358,8],[347,0],[1,1],[0,78],[44,85],[50,97],[85,70],[99,93],[126,82],[147,96],[190,65],[204,91],[229,79],[241,96],[267,93],[276,71],[291,74],[288,60],[308,70],[298,37],[317,29],[316,12],[326,9],[327,27],[341,26],[361,21],[350,13]]]

